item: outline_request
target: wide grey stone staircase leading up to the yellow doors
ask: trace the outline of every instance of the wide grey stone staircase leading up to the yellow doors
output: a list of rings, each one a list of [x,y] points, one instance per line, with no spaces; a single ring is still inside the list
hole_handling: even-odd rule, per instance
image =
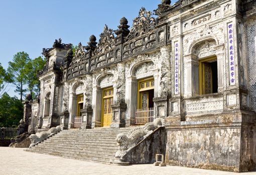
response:
[[[87,130],[63,130],[25,151],[106,164],[128,165],[129,162],[114,157],[118,149],[115,138],[118,133],[128,133],[131,129],[131,127],[119,129],[99,127]]]

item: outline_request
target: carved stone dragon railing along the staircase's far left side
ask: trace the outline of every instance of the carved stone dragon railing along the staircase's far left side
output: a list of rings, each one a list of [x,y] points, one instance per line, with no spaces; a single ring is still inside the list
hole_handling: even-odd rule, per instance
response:
[[[31,134],[29,136],[29,138],[31,140],[31,144],[29,147],[36,145],[37,143],[45,140],[49,136],[52,136],[53,134],[55,134],[59,131],[61,131],[61,126],[52,127],[47,131],[41,131],[41,132],[37,132],[36,134]]]

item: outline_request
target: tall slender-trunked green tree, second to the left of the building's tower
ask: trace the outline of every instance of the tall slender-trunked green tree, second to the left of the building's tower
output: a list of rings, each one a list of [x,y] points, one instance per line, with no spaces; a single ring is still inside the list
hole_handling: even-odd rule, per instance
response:
[[[29,58],[29,54],[22,51],[18,52],[13,57],[13,62],[9,61],[8,66],[8,74],[10,76],[9,82],[15,84],[16,89],[15,92],[19,92],[20,100],[22,102],[22,98],[25,95],[27,89],[24,88],[25,84],[25,66],[31,59]]]

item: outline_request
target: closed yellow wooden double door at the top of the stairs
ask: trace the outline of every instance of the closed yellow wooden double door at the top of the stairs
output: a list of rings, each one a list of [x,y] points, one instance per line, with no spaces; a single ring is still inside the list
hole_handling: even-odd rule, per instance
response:
[[[112,122],[113,88],[103,90],[102,100],[102,126],[109,126]]]

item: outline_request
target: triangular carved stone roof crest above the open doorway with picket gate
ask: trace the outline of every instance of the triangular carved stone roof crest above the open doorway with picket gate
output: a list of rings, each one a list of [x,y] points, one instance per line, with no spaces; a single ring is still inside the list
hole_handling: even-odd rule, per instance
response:
[[[156,19],[152,16],[151,11],[146,11],[144,7],[142,7],[139,11],[139,16],[133,20],[133,26],[129,35],[127,35],[127,39],[133,39],[138,36],[141,36],[144,33],[155,28]]]

